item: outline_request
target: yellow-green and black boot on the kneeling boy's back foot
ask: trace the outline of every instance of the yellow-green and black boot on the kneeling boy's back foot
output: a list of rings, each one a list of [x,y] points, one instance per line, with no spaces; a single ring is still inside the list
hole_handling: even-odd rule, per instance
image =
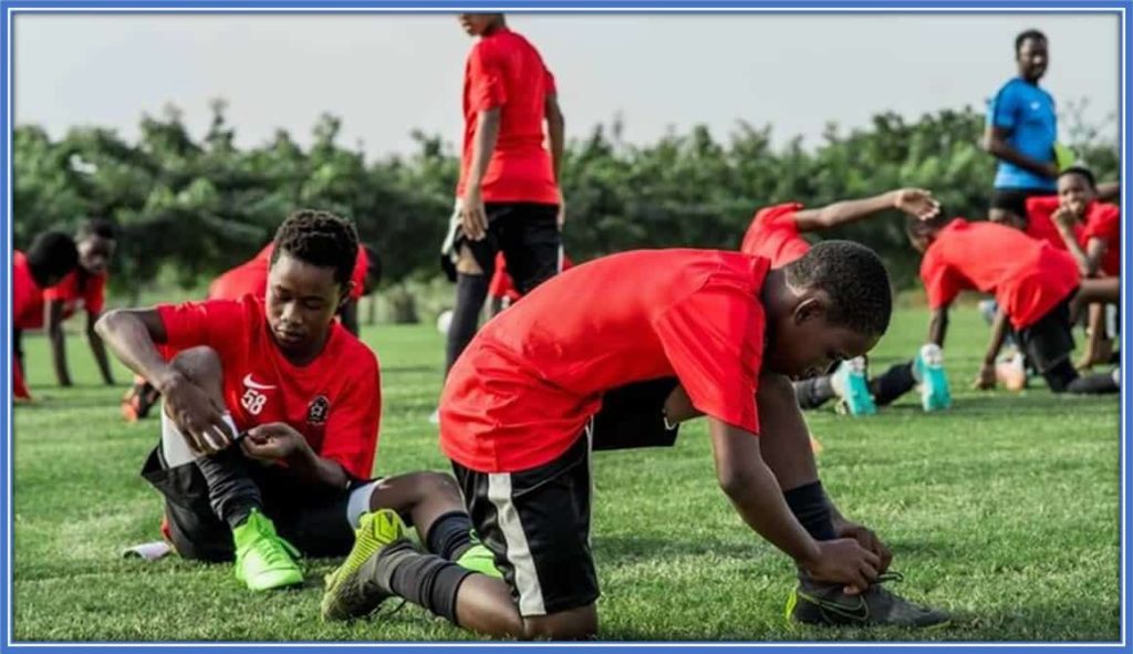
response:
[[[373,613],[391,595],[389,584],[377,578],[377,558],[386,547],[401,543],[409,544],[408,529],[394,511],[365,513],[347,560],[326,576],[320,609],[323,620],[352,620]]]

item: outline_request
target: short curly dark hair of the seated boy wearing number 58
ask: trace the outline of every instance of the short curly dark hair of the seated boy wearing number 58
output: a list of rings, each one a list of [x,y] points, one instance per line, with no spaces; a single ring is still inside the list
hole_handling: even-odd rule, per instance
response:
[[[280,253],[318,267],[333,267],[334,281],[346,286],[358,258],[358,232],[353,222],[327,211],[300,210],[275,232],[272,265]]]

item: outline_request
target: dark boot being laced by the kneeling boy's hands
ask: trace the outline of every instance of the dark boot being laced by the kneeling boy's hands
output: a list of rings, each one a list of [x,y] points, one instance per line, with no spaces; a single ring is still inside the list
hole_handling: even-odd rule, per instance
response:
[[[860,595],[846,595],[841,584],[820,584],[799,579],[799,587],[786,602],[787,619],[804,625],[942,627],[951,620],[944,611],[914,604],[884,588],[884,581],[900,581],[901,575],[887,572]]]

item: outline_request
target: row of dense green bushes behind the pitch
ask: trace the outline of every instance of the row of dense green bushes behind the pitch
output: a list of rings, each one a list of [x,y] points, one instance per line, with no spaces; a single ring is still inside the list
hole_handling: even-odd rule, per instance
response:
[[[1066,139],[1100,179],[1115,178],[1115,145],[1081,119],[1084,101],[1067,105]],[[355,219],[382,253],[389,280],[436,274],[459,165],[442,138],[414,133],[415,154],[367,162],[338,144],[341,122],[324,114],[307,151],[283,130],[241,151],[224,102],[211,108],[199,143],[174,108],[144,116],[135,144],[101,128],[75,128],[59,141],[35,126],[17,128],[17,247],[41,230],[103,214],[125,235],[114,263],[120,289],[136,291],[165,265],[188,287],[249,257],[289,212],[317,207]],[[900,186],[930,188],[949,213],[980,218],[995,167],[979,148],[982,129],[970,108],[915,122],[883,113],[849,134],[830,125],[812,148],[799,138],[774,147],[770,127],[746,122],[724,141],[697,126],[649,145],[624,144],[619,121],[597,126],[566,148],[566,241],[579,261],[638,247],[733,248],[760,206],[820,206]],[[874,247],[898,286],[911,280],[914,258],[895,218],[827,237]]]

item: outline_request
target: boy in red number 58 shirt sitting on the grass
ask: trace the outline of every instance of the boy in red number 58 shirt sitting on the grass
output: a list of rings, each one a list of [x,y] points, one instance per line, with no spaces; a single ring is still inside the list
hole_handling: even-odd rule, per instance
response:
[[[369,478],[377,359],[334,320],[357,249],[351,222],[299,211],[275,235],[264,299],[114,311],[97,323],[161,391],[161,443],[142,475],[165,498],[173,546],[189,559],[235,557],[254,591],[300,584],[299,552],[346,554],[359,517],[382,508],[431,552],[491,569],[451,477]]]

